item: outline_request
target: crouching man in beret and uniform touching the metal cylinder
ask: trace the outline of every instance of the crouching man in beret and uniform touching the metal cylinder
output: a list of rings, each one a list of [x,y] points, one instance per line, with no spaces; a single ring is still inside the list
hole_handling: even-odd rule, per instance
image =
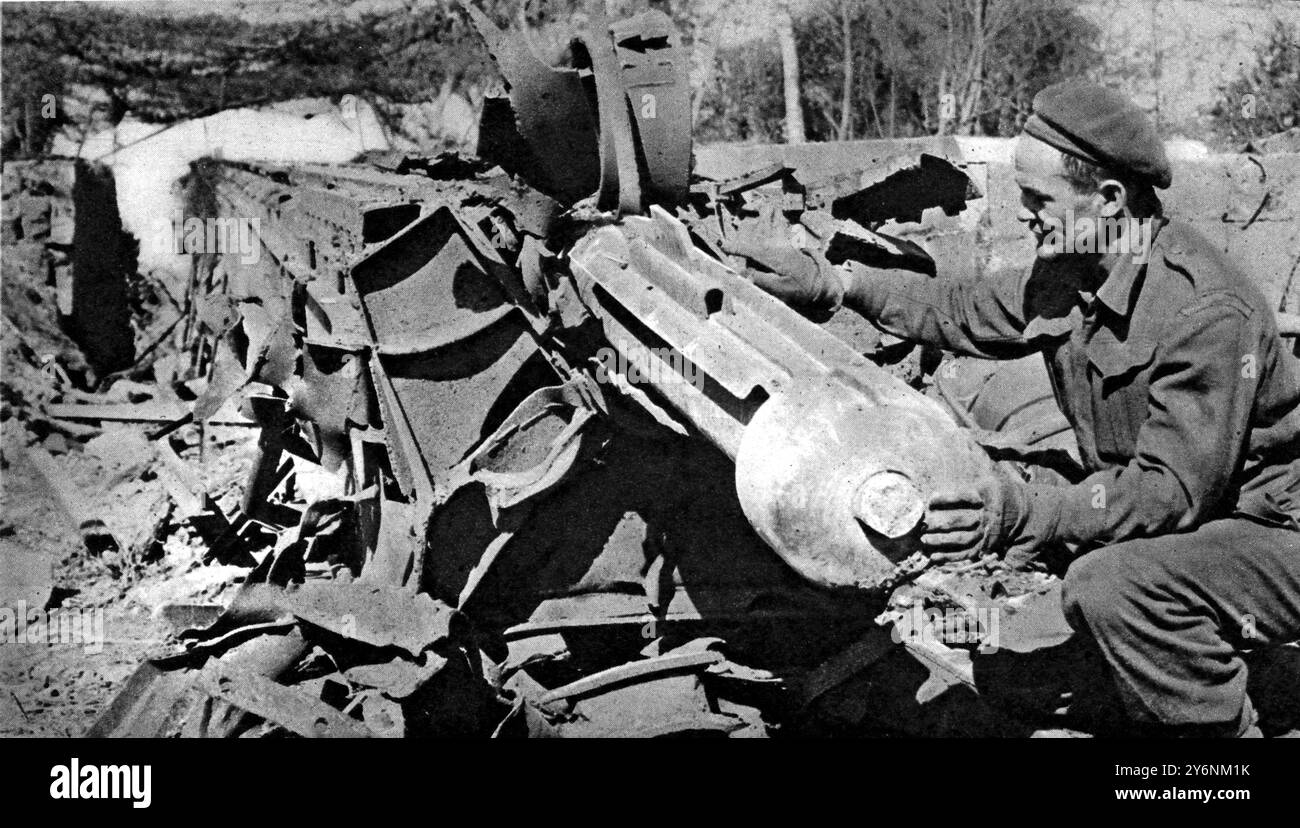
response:
[[[1300,638],[1300,385],[1273,309],[1164,217],[1164,144],[1122,95],[1043,90],[1015,182],[1028,273],[850,265],[764,287],[959,354],[1041,352],[1088,476],[939,493],[922,542],[939,560],[1074,550],[1066,619],[1104,656],[1130,732],[1256,734],[1242,650]]]

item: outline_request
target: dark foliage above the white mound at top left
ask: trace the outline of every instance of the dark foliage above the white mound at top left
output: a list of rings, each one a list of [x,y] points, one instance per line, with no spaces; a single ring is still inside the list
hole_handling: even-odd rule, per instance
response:
[[[18,101],[101,92],[107,118],[130,110],[172,122],[243,104],[360,94],[390,101],[437,96],[446,81],[493,70],[450,4],[398,13],[250,23],[233,16],[150,17],[94,4],[5,4],[5,153],[30,131]],[[46,126],[36,147],[51,131]],[[84,126],[84,125],[83,125]],[[29,142],[30,143],[30,142]]]

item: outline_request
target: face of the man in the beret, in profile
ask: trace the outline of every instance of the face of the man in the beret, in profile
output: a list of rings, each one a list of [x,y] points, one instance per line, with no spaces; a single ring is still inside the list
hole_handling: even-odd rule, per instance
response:
[[[1017,218],[1034,234],[1039,259],[1070,255],[1062,250],[1061,229],[1080,218],[1100,213],[1096,194],[1080,194],[1066,181],[1061,151],[1032,135],[1015,142],[1015,183],[1020,188]],[[1056,227],[1058,231],[1052,233]]]

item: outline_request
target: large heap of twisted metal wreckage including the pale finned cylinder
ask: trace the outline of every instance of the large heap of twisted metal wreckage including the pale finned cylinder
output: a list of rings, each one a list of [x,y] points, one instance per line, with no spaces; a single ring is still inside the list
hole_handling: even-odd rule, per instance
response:
[[[838,260],[932,268],[872,227],[961,211],[961,170],[693,181],[664,16],[594,16],[552,69],[469,14],[508,87],[481,157],[196,165],[260,256],[208,263],[235,359],[192,416],[243,400],[261,438],[231,519],[278,539],[234,539],[233,604],[91,734],[806,727],[892,651],[875,619],[916,573],[916,504],[998,468],[722,251],[776,204]],[[285,520],[286,455],[344,495]],[[928,685],[974,684],[930,653]]]

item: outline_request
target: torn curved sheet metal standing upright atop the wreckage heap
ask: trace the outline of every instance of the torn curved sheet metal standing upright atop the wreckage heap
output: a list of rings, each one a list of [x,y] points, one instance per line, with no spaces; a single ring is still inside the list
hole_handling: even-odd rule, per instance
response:
[[[689,55],[666,14],[611,23],[595,4],[572,44],[575,69],[556,69],[537,60],[523,35],[465,8],[510,92],[508,104],[484,105],[481,156],[566,204],[595,195],[598,209],[634,214],[647,203],[685,199]]]

